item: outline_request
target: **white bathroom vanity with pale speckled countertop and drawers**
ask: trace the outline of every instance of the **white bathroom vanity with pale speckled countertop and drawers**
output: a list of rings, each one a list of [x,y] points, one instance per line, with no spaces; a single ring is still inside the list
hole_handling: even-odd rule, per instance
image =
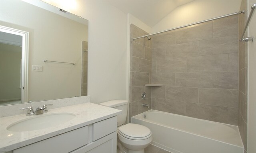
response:
[[[0,118],[0,153],[116,153],[116,116],[120,113],[120,110],[88,102],[51,109],[36,116]],[[74,118],[48,128],[10,129],[26,120],[38,118],[40,122],[40,118],[56,114],[72,114]]]

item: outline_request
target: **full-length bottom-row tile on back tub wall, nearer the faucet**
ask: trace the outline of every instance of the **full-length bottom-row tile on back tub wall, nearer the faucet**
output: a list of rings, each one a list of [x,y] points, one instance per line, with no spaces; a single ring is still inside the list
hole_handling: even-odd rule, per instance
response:
[[[186,102],[177,100],[156,99],[156,110],[186,115]]]

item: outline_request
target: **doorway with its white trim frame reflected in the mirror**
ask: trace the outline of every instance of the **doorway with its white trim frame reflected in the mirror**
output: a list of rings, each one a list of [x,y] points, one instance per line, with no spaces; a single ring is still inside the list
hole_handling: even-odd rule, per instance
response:
[[[26,102],[28,33],[0,26],[0,105]]]

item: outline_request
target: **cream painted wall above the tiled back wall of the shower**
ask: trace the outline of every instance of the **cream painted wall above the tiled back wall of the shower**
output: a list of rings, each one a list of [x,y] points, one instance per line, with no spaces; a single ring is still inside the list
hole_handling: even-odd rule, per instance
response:
[[[179,6],[152,27],[152,32],[192,24],[238,12],[241,0],[195,0]]]

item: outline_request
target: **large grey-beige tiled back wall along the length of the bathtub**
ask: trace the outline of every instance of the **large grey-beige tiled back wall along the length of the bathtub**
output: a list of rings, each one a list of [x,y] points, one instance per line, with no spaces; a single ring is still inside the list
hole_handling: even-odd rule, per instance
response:
[[[238,16],[154,35],[152,109],[238,124]]]

